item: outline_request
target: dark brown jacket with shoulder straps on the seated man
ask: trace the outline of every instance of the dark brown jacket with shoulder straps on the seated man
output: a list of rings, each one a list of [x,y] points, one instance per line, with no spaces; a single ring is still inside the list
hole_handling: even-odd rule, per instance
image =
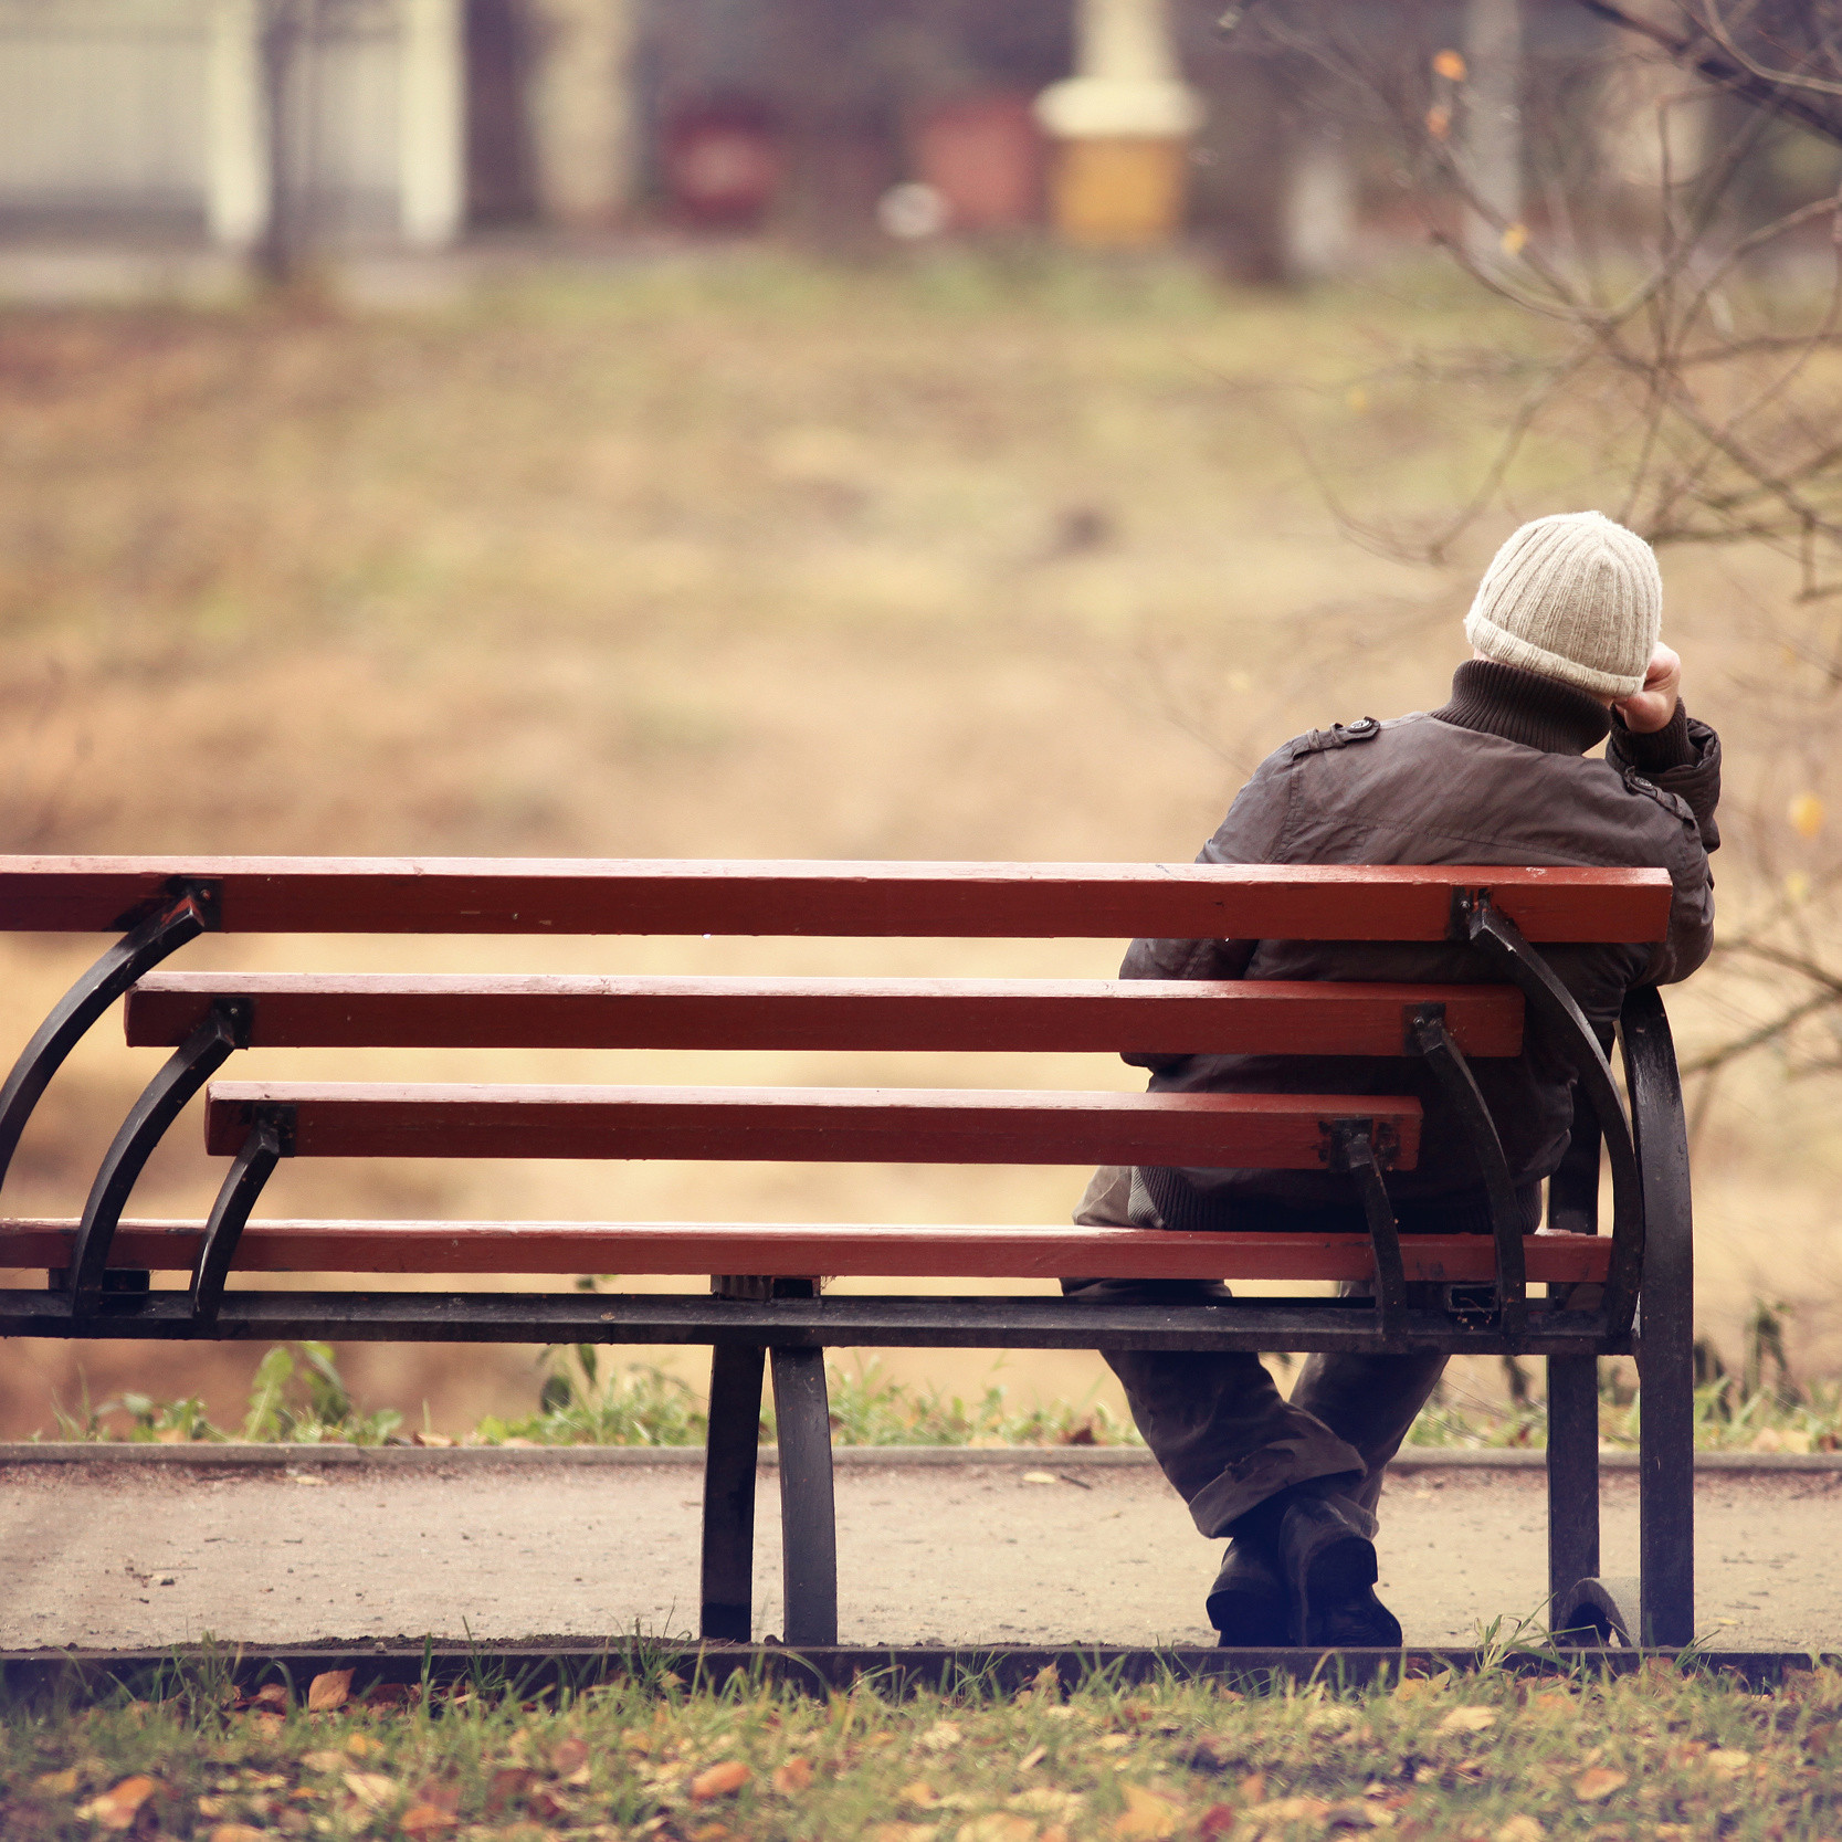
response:
[[[1603,761],[1586,750],[1612,731]],[[1544,947],[1549,965],[1610,1043],[1632,985],[1687,978],[1713,941],[1720,740],[1680,707],[1656,735],[1612,724],[1580,691],[1509,665],[1461,665],[1442,709],[1317,729],[1269,755],[1242,788],[1203,864],[1579,864],[1654,866],[1674,882],[1669,938],[1643,947]],[[1124,978],[1337,978],[1488,982],[1463,945],[1293,939],[1140,939]],[[1415,1094],[1426,1107],[1418,1166],[1389,1177],[1413,1212],[1481,1207],[1477,1166],[1411,1057],[1127,1055],[1153,1092]],[[1509,1159],[1527,1188],[1568,1148],[1571,1072],[1538,1035],[1520,1057],[1477,1057]],[[1253,1227],[1275,1210],[1347,1208],[1332,1172],[1146,1172],[1172,1227]],[[1275,1223],[1278,1225],[1278,1223]],[[1300,1223],[1302,1225],[1302,1223]],[[1431,1225],[1431,1223],[1429,1223]]]

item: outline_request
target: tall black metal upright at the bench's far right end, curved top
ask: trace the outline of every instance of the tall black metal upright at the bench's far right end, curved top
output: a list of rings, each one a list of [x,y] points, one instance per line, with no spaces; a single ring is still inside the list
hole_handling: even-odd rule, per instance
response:
[[[1638,1319],[1638,1553],[1645,1643],[1695,1638],[1695,1234],[1689,1133],[1669,1017],[1654,987],[1619,1017],[1649,1245]]]

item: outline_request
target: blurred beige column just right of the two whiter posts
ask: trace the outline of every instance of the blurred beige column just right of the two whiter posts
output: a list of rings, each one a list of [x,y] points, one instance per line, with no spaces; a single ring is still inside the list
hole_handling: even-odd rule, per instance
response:
[[[597,227],[634,190],[634,0],[532,0],[530,140],[551,223]]]

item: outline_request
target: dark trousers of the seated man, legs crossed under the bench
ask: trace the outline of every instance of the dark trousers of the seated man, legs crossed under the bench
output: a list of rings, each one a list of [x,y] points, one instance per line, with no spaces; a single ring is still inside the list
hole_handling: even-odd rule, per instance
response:
[[[1160,1227],[1125,1168],[1103,1166],[1081,1197],[1081,1227]],[[1361,1223],[1354,1221],[1359,1230]],[[1192,1304],[1227,1299],[1208,1280],[1068,1278],[1070,1299],[1096,1304]],[[1409,1286],[1409,1297],[1420,1288]],[[1413,1302],[1422,1302],[1415,1299]],[[1113,1350],[1133,1420],[1208,1536],[1288,1485],[1343,1479],[1374,1516],[1382,1474],[1444,1372],[1446,1358],[1312,1356],[1291,1400],[1258,1356],[1186,1350]]]

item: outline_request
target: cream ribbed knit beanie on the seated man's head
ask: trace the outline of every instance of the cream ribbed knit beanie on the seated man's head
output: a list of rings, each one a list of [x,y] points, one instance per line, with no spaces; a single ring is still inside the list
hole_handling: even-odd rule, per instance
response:
[[[1603,512],[1558,512],[1510,532],[1464,617],[1499,665],[1630,696],[1663,626],[1663,577],[1636,530]]]

